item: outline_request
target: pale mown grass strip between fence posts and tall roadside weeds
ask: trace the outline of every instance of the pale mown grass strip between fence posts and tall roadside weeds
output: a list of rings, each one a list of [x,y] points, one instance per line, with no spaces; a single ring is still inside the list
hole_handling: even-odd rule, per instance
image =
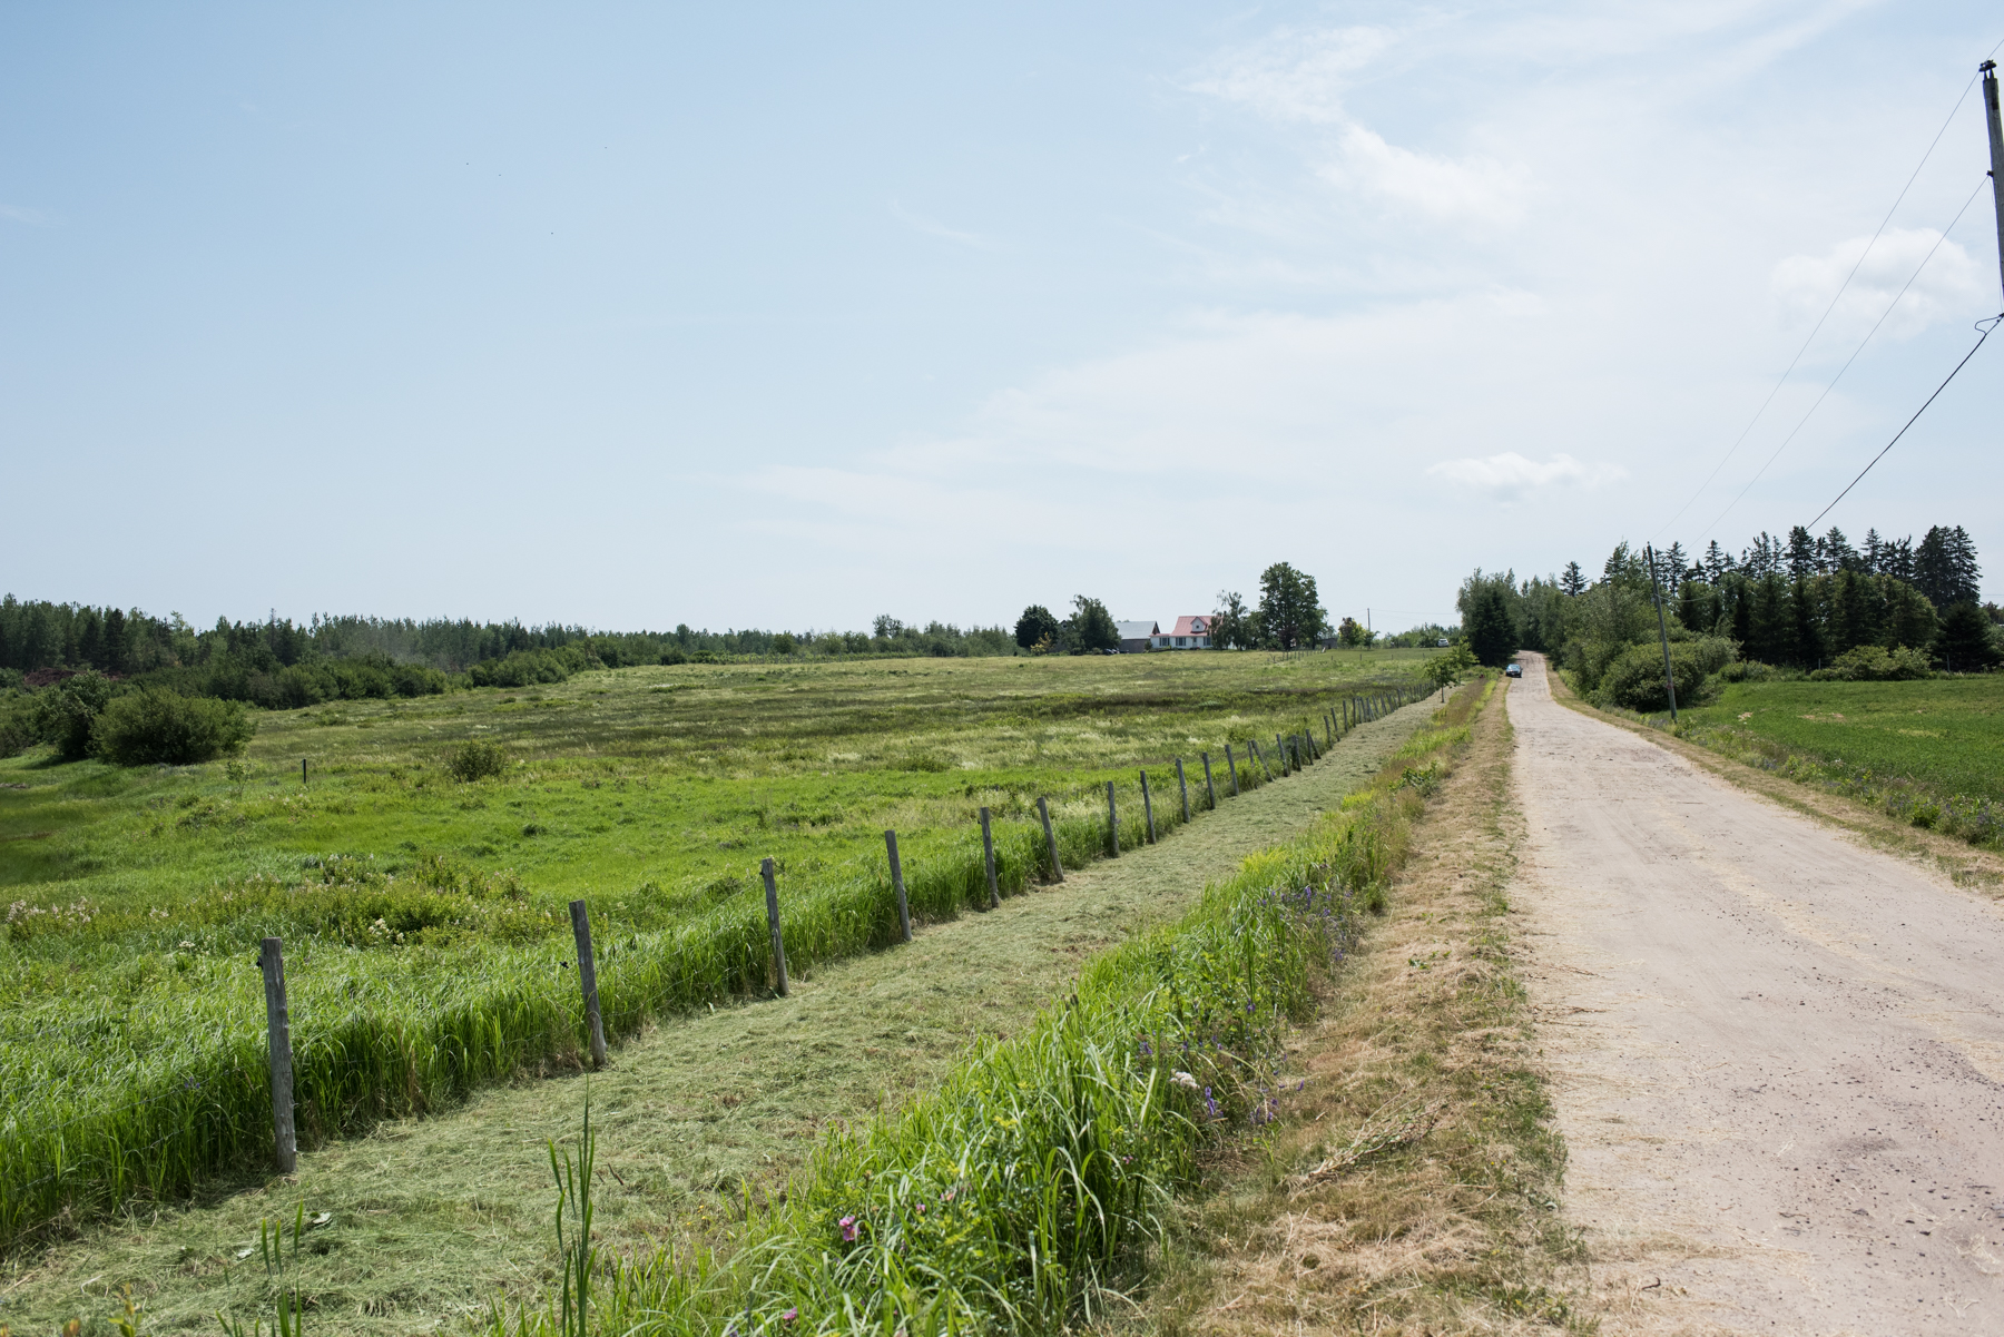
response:
[[[1156,846],[1130,850],[932,924],[910,946],[830,962],[788,998],[665,1018],[597,1074],[475,1092],[427,1119],[383,1121],[301,1155],[297,1177],[218,1175],[188,1203],[134,1203],[72,1237],[0,1259],[0,1323],[56,1331],[116,1313],[120,1287],[148,1333],[214,1331],[220,1309],[271,1317],[261,1259],[236,1257],[261,1219],[305,1201],[315,1331],[453,1331],[553,1271],[545,1139],[575,1147],[589,1094],[599,1129],[595,1231],[615,1255],[729,1233],[741,1185],[804,1169],[832,1123],[868,1123],[936,1088],[982,1040],[1018,1036],[1094,954],[1176,920],[1248,856],[1339,812],[1387,756],[1425,732],[1417,706],[1361,728],[1303,776],[1224,800]]]

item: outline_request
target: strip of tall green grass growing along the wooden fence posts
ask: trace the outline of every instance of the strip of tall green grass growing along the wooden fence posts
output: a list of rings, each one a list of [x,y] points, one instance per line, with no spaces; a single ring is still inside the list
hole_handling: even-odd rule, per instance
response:
[[[994,894],[1020,896],[1054,884],[1060,866],[1078,870],[1154,844],[1236,794],[1313,766],[1359,726],[1427,696],[1415,684],[1385,684],[1327,702],[1317,718],[1277,734],[1271,752],[1244,734],[1226,740],[1226,756],[1200,754],[1196,766],[1172,758],[1170,768],[1156,768],[1152,788],[1146,768],[1106,790],[1078,788],[1050,804],[1048,836],[1032,804],[1008,808],[994,824]],[[1176,778],[1168,780],[1172,770]],[[986,910],[992,900],[980,838],[972,848],[906,856],[904,886],[916,924]],[[786,962],[800,976],[896,946],[904,934],[888,862],[786,888],[778,928]],[[727,902],[645,932],[613,928],[593,938],[591,962],[607,1042],[627,1040],[663,1016],[770,996],[778,982],[764,904]],[[435,1112],[521,1072],[585,1066],[589,1022],[579,962],[545,944],[523,952],[517,966],[407,1010],[355,1004],[345,1014],[307,1016],[305,1024],[293,1018],[285,1048],[299,1141],[313,1147],[381,1119]],[[134,1080],[152,1090],[60,1119],[36,1119],[36,1100],[10,1092],[0,1121],[0,1247],[56,1219],[132,1199],[170,1199],[273,1157],[269,1034],[238,1026],[182,1066]],[[54,1112],[58,1096],[48,1092],[42,1108]]]

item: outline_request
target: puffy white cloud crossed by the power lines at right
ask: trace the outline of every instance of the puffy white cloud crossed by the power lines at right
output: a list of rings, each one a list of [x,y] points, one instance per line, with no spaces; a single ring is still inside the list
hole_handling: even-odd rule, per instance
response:
[[[1848,355],[1880,317],[1886,317],[1882,335],[1912,339],[1930,325],[1984,309],[1988,273],[1958,243],[1944,241],[1934,229],[1892,229],[1866,255],[1870,241],[1852,237],[1824,255],[1792,255],[1774,267],[1770,283],[1784,317],[1794,325],[1810,325],[1830,307],[1858,257],[1866,257],[1824,325],[1824,335],[1836,337],[1836,347],[1826,351]],[[1912,287],[1906,287],[1908,279],[1914,281]],[[1886,315],[1896,297],[1898,305]]]

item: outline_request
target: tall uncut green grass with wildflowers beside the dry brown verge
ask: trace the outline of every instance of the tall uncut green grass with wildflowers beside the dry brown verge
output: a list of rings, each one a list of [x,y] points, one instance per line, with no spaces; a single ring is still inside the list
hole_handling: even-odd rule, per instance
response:
[[[1142,1277],[1200,1149],[1273,1119],[1283,1038],[1397,868],[1443,728],[1309,834],[1248,858],[1176,924],[1088,962],[1026,1032],[936,1092],[832,1129],[735,1229],[589,1259],[591,1311],[495,1315],[571,1331],[950,1333],[1094,1321]]]

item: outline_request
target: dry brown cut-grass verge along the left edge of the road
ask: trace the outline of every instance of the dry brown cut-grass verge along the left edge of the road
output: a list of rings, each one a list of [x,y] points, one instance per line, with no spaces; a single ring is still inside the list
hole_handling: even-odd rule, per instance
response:
[[[1565,1147],[1509,950],[1509,746],[1491,700],[1413,830],[1385,920],[1299,1038],[1305,1090],[1212,1169],[1140,1327],[1579,1327],[1583,1253],[1557,1211]]]

